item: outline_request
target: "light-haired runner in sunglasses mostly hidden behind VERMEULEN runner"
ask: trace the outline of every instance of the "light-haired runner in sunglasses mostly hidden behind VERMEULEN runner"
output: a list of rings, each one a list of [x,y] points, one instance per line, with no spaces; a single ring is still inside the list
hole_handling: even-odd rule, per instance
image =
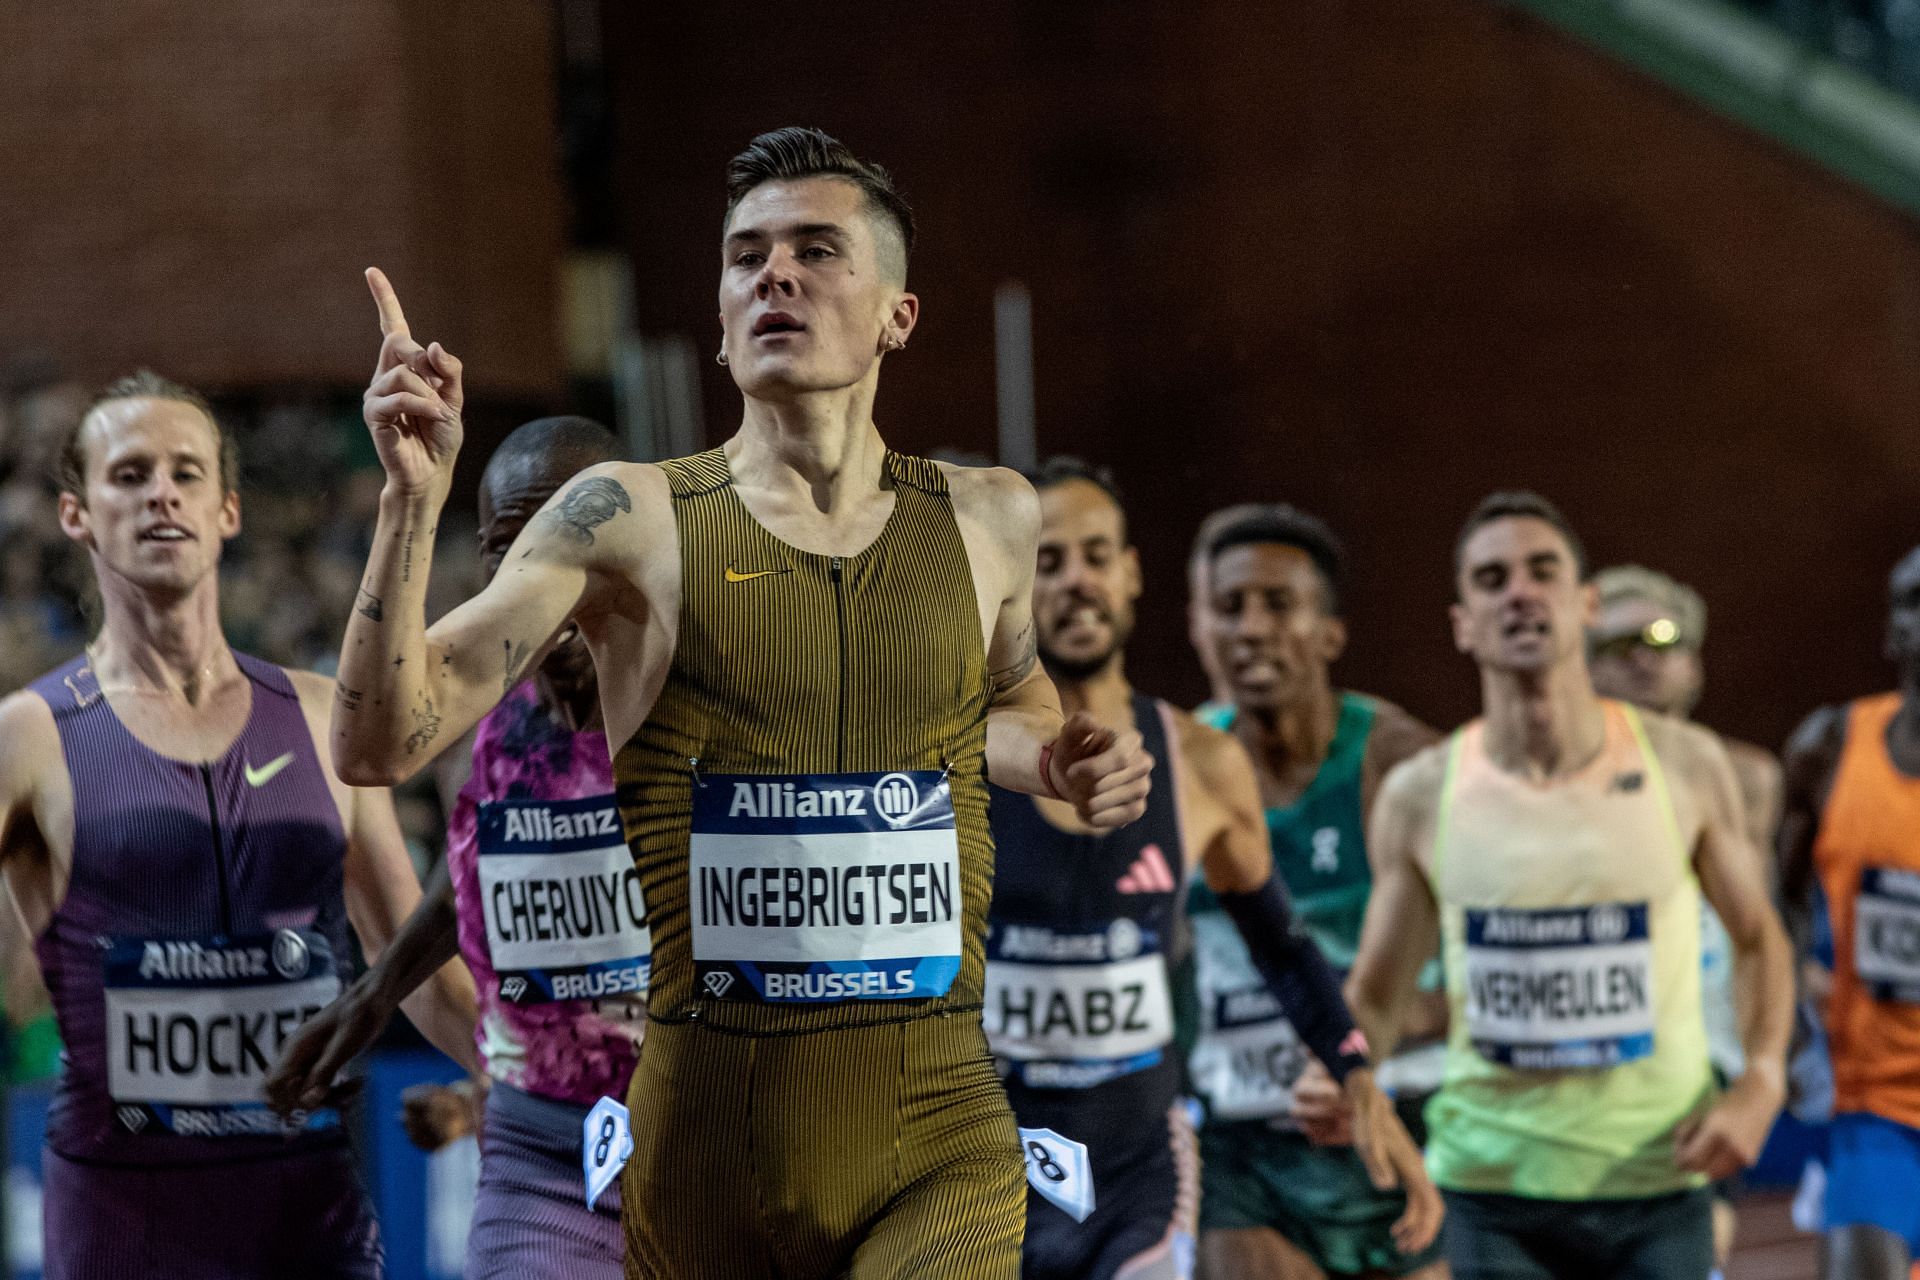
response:
[[[1707,601],[1667,574],[1617,564],[1594,574],[1599,608],[1586,633],[1594,691],[1649,712],[1692,720],[1705,687],[1701,645],[1707,639]],[[1740,806],[1755,848],[1774,846],[1780,823],[1780,762],[1753,743],[1720,737],[1740,783]],[[1722,1080],[1741,1073],[1740,1015],[1734,1007],[1732,944],[1713,908],[1701,910],[1701,1013],[1707,1017],[1707,1055]],[[1713,1199],[1713,1257],[1726,1267],[1738,1219],[1734,1182],[1716,1182]]]

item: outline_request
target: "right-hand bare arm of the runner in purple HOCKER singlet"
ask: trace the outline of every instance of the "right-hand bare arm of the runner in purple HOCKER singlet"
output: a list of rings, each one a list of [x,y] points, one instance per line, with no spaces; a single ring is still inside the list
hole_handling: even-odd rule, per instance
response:
[[[334,787],[342,787],[332,775],[326,756],[326,718],[332,712],[334,681],[309,672],[290,672],[290,676],[300,691],[307,727],[315,733],[321,768],[328,771],[328,781]],[[413,873],[413,860],[407,858],[407,837],[399,829],[399,814],[394,812],[394,793],[386,787],[346,787],[346,793],[344,892],[348,919],[353,923],[367,963],[372,965],[380,952],[392,944],[413,908],[419,906],[420,881]],[[434,1048],[468,1073],[480,1069],[472,1036],[478,998],[465,963],[459,960],[444,963],[430,981],[401,1000],[399,1007]]]

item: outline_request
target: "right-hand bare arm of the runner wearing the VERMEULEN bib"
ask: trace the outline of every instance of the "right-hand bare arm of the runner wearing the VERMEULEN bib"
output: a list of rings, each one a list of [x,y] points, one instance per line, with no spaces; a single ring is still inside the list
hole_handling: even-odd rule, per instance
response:
[[[1761,1155],[1786,1102],[1793,1034],[1793,948],[1768,892],[1766,862],[1747,833],[1740,783],[1720,741],[1695,725],[1647,720],[1653,748],[1699,812],[1693,869],[1734,944],[1734,1004],[1747,1069],[1715,1107],[1678,1134],[1684,1169],[1726,1178]],[[1665,741],[1663,741],[1665,739]]]

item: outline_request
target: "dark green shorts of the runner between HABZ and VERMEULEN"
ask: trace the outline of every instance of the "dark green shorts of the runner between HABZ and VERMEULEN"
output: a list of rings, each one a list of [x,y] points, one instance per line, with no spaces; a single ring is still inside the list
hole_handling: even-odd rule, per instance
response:
[[[1402,1103],[1402,1123],[1417,1107]],[[1405,1274],[1440,1261],[1436,1240],[1402,1253],[1392,1226],[1407,1209],[1400,1192],[1380,1192],[1352,1148],[1313,1146],[1261,1121],[1215,1121],[1200,1130],[1200,1230],[1265,1226],[1334,1276]]]

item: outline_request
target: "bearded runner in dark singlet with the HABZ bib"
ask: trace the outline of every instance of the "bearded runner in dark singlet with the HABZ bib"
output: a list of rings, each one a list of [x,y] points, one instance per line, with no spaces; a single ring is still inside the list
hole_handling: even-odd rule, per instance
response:
[[[1041,660],[1064,706],[1144,735],[1156,787],[1146,816],[1117,833],[1087,831],[1058,800],[993,793],[987,1042],[1014,1117],[1085,1144],[1094,1188],[1083,1222],[1029,1196],[1027,1280],[1192,1274],[1200,1167],[1173,1036],[1175,1004],[1190,1002],[1181,898],[1196,867],[1254,946],[1261,992],[1271,977],[1308,1044],[1367,1113],[1361,1150],[1373,1176],[1413,1188],[1396,1232],[1415,1247],[1428,1244],[1438,1196],[1365,1054],[1348,1040],[1354,1025],[1334,971],[1288,917],[1244,752],[1127,683],[1140,564],[1112,480],[1056,459],[1033,482]]]

